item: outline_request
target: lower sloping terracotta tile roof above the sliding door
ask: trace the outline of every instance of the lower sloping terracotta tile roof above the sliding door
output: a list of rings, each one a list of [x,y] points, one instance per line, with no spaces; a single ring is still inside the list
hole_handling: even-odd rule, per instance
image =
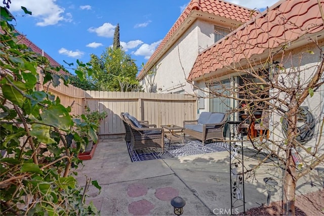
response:
[[[324,2],[321,1],[324,8]],[[269,11],[239,27],[218,44],[199,54],[188,76],[189,80],[278,48],[308,33],[323,32],[323,21],[317,1],[280,1]],[[323,37],[321,34],[321,37]],[[211,58],[212,57],[212,58]]]

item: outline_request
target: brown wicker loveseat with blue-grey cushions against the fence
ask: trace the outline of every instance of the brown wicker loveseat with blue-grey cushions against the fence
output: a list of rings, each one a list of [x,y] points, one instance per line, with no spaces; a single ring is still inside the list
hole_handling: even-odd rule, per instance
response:
[[[224,140],[223,130],[227,115],[220,112],[201,112],[197,120],[184,120],[184,134],[195,137],[203,145],[206,140]]]

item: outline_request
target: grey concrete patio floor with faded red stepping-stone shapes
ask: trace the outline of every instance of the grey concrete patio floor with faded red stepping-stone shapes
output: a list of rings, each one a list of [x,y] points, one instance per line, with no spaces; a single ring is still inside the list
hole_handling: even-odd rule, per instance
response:
[[[257,158],[245,158],[245,166],[257,164]],[[91,200],[101,215],[174,215],[170,201],[180,196],[186,201],[183,215],[229,214],[229,152],[215,152],[132,162],[124,139],[100,140],[94,157],[77,168],[79,186],[86,177],[97,180],[101,193],[89,187],[86,202]],[[272,177],[279,185],[271,201],[280,200],[282,169],[276,162],[255,170],[255,177],[245,175],[246,210],[266,202],[263,178]],[[315,186],[311,186],[313,181]],[[298,181],[297,194],[321,189],[321,180],[308,175]],[[233,209],[240,212],[242,208]]]

